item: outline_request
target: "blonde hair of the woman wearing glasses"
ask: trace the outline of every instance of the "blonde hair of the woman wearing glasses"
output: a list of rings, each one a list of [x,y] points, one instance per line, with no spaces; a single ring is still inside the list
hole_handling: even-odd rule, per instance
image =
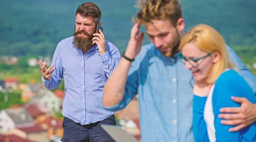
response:
[[[181,39],[179,50],[181,51],[183,46],[189,42],[194,42],[200,50],[206,53],[214,51],[220,53],[220,60],[213,64],[212,70],[209,72],[207,78],[207,83],[213,84],[225,69],[235,69],[233,63],[230,61],[224,39],[220,33],[211,26],[199,24],[193,27]]]

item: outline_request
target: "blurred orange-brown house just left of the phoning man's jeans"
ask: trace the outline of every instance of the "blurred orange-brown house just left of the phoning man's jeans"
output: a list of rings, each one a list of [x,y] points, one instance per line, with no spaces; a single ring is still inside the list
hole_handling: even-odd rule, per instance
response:
[[[63,137],[62,122],[63,119],[54,119],[52,117],[48,117],[46,120],[38,124],[41,125],[42,128],[47,129],[48,138],[51,139],[53,135]]]

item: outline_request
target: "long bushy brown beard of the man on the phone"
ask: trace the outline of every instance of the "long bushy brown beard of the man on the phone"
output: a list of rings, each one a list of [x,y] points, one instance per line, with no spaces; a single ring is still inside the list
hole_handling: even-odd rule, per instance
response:
[[[79,36],[79,34],[84,34],[86,36]],[[73,33],[74,41],[73,41],[73,45],[78,48],[81,49],[84,53],[86,53],[88,50],[90,50],[93,47],[93,33],[89,34],[87,33],[87,31],[75,31]]]

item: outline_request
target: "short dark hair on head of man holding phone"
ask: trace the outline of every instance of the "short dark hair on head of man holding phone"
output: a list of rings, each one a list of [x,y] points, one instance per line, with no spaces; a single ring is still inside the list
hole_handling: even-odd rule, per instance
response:
[[[82,3],[76,9],[76,15],[80,14],[82,17],[93,17],[93,21],[98,24],[101,19],[101,11],[99,7],[92,2]]]

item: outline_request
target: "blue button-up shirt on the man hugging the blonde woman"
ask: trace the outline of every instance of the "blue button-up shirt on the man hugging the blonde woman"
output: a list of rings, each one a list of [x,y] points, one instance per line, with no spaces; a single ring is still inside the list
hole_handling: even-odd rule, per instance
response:
[[[256,92],[256,77],[227,48]],[[192,73],[176,55],[166,58],[153,44],[144,45],[129,70],[122,101],[106,109],[123,109],[138,94],[143,142],[193,142],[193,84]]]

